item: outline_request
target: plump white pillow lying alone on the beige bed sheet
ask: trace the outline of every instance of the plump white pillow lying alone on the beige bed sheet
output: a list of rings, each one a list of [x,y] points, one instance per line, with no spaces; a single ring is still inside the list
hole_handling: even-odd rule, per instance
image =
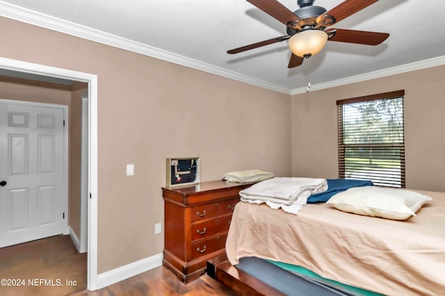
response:
[[[430,200],[429,196],[414,191],[364,186],[337,193],[327,203],[349,213],[406,220],[416,216],[416,211]]]

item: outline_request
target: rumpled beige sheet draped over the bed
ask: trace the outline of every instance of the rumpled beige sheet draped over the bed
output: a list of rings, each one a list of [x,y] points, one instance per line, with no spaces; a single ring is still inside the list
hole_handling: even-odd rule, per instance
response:
[[[238,202],[227,236],[232,265],[245,256],[282,261],[385,295],[445,295],[445,193],[405,221],[306,204],[298,215]]]

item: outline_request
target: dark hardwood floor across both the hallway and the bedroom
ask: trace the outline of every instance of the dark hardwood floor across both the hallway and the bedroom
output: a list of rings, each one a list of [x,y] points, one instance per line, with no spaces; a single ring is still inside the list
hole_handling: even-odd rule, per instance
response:
[[[25,280],[24,286],[0,285],[1,296],[236,295],[208,275],[183,284],[163,266],[90,292],[86,290],[86,254],[77,252],[70,236],[52,236],[0,248],[0,279]],[[58,280],[63,286],[58,286]],[[76,284],[67,285],[67,281]]]

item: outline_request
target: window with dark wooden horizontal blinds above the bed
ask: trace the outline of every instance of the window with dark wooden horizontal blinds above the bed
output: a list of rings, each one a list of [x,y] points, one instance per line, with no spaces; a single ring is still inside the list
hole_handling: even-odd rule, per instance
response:
[[[337,101],[339,177],[405,187],[405,91]]]

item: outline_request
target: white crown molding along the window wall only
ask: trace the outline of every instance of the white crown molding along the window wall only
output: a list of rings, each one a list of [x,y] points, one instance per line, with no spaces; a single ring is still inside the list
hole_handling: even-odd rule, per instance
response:
[[[371,80],[371,79],[375,79],[375,78],[382,78],[382,77],[387,77],[387,76],[396,75],[396,74],[400,74],[400,73],[441,66],[443,64],[445,64],[445,55],[443,55],[441,57],[437,57],[437,58],[430,58],[428,60],[422,60],[419,62],[412,62],[410,64],[403,64],[403,65],[397,66],[397,67],[392,67],[392,68],[382,69],[382,70],[373,71],[373,72],[369,72],[369,73],[364,73],[364,74],[360,74],[357,76],[350,76],[347,78],[332,80],[329,82],[318,83],[317,85],[312,85],[311,91],[313,92],[316,90],[327,89],[330,87],[339,87],[341,85],[348,85],[348,84],[355,83],[355,82],[362,82],[362,81]],[[300,87],[298,89],[292,89],[291,95],[304,94],[305,92],[306,92],[306,87]]]

